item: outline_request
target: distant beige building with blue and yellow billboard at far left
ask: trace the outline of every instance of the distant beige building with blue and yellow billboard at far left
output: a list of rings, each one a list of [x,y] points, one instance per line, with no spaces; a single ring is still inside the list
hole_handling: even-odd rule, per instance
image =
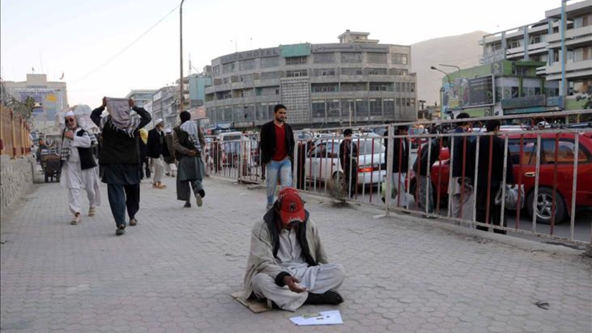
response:
[[[4,84],[18,100],[25,101],[28,97],[35,100],[38,107],[34,110],[34,133],[57,133],[56,114],[68,107],[66,82],[47,81],[46,74],[27,74],[27,81],[5,81]]]

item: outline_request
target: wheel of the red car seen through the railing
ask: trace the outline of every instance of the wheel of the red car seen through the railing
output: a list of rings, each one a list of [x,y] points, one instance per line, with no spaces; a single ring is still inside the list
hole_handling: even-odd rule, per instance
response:
[[[557,191],[555,203],[555,224],[563,222],[567,217],[567,210],[565,209],[565,201],[563,196]],[[526,210],[530,217],[533,215],[532,203],[535,199],[535,191],[532,191],[526,200]],[[539,188],[539,193],[536,197],[536,223],[543,225],[551,224],[553,204],[553,189],[548,187]]]

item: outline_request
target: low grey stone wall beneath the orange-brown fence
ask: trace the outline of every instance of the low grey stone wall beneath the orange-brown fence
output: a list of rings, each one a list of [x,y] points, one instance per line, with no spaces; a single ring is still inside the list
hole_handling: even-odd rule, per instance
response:
[[[0,155],[0,214],[31,189],[34,167],[31,155],[15,159]]]

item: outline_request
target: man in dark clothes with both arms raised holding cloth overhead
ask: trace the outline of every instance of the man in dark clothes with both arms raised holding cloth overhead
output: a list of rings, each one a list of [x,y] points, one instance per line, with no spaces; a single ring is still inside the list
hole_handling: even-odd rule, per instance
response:
[[[101,118],[107,107],[108,116]],[[130,108],[136,115],[130,114]],[[140,147],[138,130],[150,123],[152,117],[143,107],[134,105],[130,98],[103,97],[100,107],[91,113],[91,119],[102,131],[102,149],[99,164],[102,182],[107,183],[111,213],[117,225],[116,235],[126,233],[126,208],[130,226],[137,224],[140,209]]]

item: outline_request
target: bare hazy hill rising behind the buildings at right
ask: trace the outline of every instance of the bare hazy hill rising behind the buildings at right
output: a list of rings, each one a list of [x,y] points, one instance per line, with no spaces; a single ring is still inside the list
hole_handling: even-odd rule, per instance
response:
[[[444,74],[430,69],[430,66],[452,73],[457,69],[438,64],[455,65],[461,69],[480,65],[483,47],[478,41],[486,34],[488,33],[485,31],[474,31],[411,44],[411,72],[417,73],[417,100],[426,101],[426,105],[434,105],[437,101],[440,105],[440,87]]]

